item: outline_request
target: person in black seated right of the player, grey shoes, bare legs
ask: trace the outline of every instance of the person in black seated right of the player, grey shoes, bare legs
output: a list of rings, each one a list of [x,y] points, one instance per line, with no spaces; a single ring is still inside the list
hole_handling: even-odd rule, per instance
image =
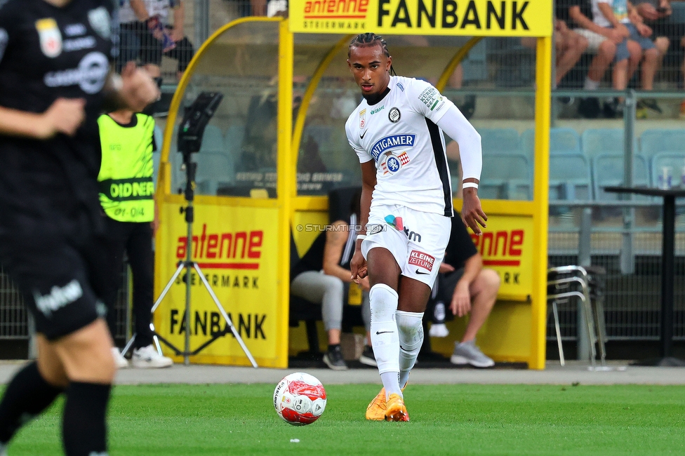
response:
[[[431,337],[446,337],[449,334],[445,325],[446,303],[449,303],[453,315],[463,317],[470,314],[461,341],[454,343],[451,363],[470,364],[478,368],[495,365],[495,361],[477,347],[476,335],[495,305],[499,288],[500,277],[497,272],[483,267],[483,258],[460,217],[452,217],[445,259],[440,264],[426,312],[432,321],[429,330]]]

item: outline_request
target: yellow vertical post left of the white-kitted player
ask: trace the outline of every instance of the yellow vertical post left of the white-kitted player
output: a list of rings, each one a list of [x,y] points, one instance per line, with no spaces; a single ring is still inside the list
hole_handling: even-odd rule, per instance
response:
[[[278,157],[277,199],[279,201],[279,284],[278,299],[281,320],[278,322],[278,358],[288,360],[288,314],[290,311],[290,227],[293,200],[297,192],[297,173],[291,137],[293,131],[293,34],[288,20],[279,27],[279,98],[278,98]],[[282,367],[286,367],[282,366]]]

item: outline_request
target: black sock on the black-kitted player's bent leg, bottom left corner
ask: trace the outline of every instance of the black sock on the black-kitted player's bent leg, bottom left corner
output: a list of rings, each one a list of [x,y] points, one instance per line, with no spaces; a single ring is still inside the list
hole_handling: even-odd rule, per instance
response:
[[[0,443],[10,441],[25,422],[39,415],[61,392],[61,388],[41,377],[35,362],[20,370],[0,402]]]

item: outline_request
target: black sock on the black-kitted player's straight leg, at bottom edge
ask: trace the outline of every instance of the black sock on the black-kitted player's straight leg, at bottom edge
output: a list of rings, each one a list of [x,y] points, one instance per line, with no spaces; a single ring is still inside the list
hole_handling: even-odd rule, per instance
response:
[[[111,384],[69,384],[62,418],[62,440],[67,456],[107,454],[105,420],[111,389]]]

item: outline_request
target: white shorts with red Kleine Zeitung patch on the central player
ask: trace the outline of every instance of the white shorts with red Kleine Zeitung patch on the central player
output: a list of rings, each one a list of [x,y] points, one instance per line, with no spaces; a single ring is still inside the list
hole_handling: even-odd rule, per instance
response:
[[[401,274],[433,288],[452,227],[449,217],[394,204],[374,206],[368,215],[361,253],[390,250]]]

